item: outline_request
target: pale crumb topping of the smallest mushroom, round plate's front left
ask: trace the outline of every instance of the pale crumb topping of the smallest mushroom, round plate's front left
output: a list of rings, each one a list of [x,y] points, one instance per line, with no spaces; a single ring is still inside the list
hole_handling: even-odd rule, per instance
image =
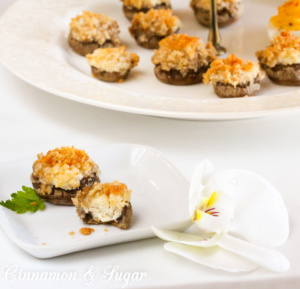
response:
[[[107,72],[124,73],[137,66],[139,62],[139,56],[126,51],[125,46],[99,48],[86,57],[90,66]]]

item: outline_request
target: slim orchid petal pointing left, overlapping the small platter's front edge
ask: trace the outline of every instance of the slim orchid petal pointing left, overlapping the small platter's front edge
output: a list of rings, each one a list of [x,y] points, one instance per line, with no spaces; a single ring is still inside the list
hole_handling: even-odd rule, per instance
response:
[[[217,234],[199,234],[192,235],[187,233],[179,233],[174,231],[162,230],[155,227],[151,227],[153,233],[169,242],[178,242],[180,244],[192,245],[197,247],[212,247],[215,246],[218,239],[220,239],[220,235]]]

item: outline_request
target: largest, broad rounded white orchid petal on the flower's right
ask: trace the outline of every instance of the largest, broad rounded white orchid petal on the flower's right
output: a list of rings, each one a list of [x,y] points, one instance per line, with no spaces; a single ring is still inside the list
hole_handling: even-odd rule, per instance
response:
[[[236,202],[231,232],[262,246],[280,246],[287,240],[287,209],[268,181],[251,172],[226,170],[214,174],[208,185],[226,192]]]

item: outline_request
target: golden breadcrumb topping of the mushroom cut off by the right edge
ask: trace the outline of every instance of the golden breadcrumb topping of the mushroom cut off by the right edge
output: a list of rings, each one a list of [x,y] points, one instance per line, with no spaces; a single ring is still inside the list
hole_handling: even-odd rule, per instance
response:
[[[271,45],[265,50],[256,52],[256,56],[262,64],[269,67],[300,63],[300,38],[290,31],[283,31],[273,38]]]

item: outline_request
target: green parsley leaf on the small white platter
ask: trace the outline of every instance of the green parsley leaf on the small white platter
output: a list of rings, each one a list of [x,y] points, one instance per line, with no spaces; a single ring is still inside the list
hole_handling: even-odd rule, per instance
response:
[[[22,190],[11,194],[12,199],[6,202],[1,201],[0,205],[18,214],[35,213],[44,209],[44,201],[38,197],[34,189],[23,186]]]

